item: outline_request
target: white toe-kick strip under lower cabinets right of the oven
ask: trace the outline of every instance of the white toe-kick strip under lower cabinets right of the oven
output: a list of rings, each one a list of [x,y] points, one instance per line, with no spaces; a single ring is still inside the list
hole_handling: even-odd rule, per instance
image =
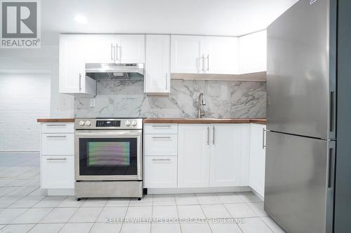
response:
[[[235,187],[209,187],[209,188],[148,188],[147,194],[185,194],[185,193],[211,193],[211,192],[250,192],[249,186]]]

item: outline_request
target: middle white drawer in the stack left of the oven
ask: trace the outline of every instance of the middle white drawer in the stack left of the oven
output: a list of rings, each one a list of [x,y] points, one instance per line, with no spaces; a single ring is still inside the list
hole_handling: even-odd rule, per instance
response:
[[[74,155],[74,134],[41,134],[41,155]]]

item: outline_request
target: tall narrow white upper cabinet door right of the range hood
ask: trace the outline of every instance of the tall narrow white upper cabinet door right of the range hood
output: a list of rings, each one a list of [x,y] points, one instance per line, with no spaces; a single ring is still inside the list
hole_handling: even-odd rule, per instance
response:
[[[171,36],[146,36],[145,92],[169,94],[170,92],[170,50]]]

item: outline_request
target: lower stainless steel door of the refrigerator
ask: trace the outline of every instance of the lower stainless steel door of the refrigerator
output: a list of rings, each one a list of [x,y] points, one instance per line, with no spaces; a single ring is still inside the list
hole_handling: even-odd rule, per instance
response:
[[[286,232],[331,232],[333,143],[267,132],[265,211]]]

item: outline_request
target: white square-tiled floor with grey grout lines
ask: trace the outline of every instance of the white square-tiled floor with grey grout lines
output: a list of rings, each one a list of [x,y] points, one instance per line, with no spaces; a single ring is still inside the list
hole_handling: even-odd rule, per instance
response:
[[[39,188],[39,172],[37,153],[0,153],[0,233],[284,232],[252,192],[77,202],[74,197],[46,197]],[[123,218],[129,223],[121,223]],[[144,223],[133,223],[133,218],[143,218]],[[148,218],[162,223],[147,222]]]

